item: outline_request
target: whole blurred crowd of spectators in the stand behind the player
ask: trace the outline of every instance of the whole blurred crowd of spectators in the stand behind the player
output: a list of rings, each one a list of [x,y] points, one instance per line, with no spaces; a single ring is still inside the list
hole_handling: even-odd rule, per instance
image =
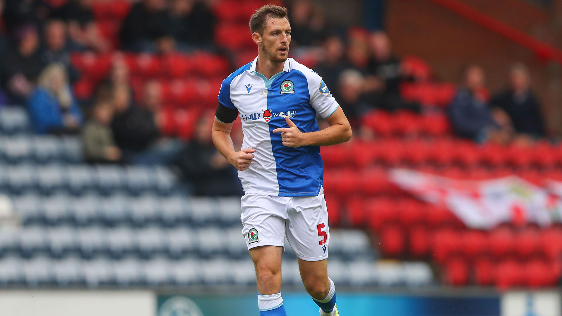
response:
[[[144,84],[135,102],[128,65],[114,58],[110,75],[93,100],[79,104],[72,84],[80,74],[72,52],[124,51],[166,54],[204,49],[224,54],[214,42],[217,16],[211,0],[139,0],[119,29],[119,45],[103,37],[92,11],[95,0],[68,0],[52,6],[43,0],[0,0],[0,103],[26,105],[38,134],[80,134],[89,162],[170,164],[197,183],[197,195],[240,194],[235,170],[210,139],[212,113],[196,123],[188,142],[162,137],[162,87]],[[330,25],[321,7],[309,0],[287,3],[292,25],[293,56],[314,55],[312,68],[324,79],[346,112],[356,137],[373,138],[361,127],[372,110],[406,110],[423,114],[424,107],[405,101],[407,74],[383,31]],[[248,37],[250,36],[248,32]],[[532,142],[545,137],[541,107],[529,89],[524,65],[515,65],[509,87],[490,98],[483,70],[466,67],[463,82],[448,115],[459,137],[498,143]],[[219,189],[217,189],[219,188]]]

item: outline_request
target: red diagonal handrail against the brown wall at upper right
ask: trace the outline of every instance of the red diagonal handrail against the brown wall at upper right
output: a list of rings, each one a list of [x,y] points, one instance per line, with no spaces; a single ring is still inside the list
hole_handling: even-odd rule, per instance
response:
[[[512,40],[513,42],[524,46],[533,51],[541,60],[554,60],[562,64],[562,51],[555,48],[551,44],[541,42],[530,35],[525,34],[513,26],[509,26],[504,22],[493,19],[493,17],[486,15],[472,7],[467,6],[457,0],[429,0],[433,3],[439,4],[448,10],[457,13],[458,15],[473,21],[484,28],[495,31],[497,34]]]

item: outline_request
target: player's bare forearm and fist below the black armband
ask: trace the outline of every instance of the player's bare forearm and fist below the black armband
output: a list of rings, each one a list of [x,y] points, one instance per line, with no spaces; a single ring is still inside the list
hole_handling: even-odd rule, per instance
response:
[[[234,150],[234,144],[230,137],[232,125],[233,123],[223,123],[215,118],[215,122],[212,124],[212,142],[215,143],[217,150],[219,150],[220,154],[223,155],[230,164],[236,169],[243,171],[250,166],[253,159],[251,153],[256,150],[252,148],[244,148],[241,151]]]

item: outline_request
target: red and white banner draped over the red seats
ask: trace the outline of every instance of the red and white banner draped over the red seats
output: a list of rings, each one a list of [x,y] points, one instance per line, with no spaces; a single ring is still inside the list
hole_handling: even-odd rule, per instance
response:
[[[472,228],[562,222],[562,182],[542,188],[516,176],[456,180],[406,169],[391,170],[389,179],[424,201],[446,206]]]

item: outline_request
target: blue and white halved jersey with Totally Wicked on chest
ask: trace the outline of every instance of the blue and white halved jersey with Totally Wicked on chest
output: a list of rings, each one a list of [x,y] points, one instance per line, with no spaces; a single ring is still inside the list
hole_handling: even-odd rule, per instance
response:
[[[269,80],[256,71],[257,57],[224,79],[219,102],[237,109],[242,120],[242,148],[256,152],[250,167],[238,171],[246,193],[317,196],[324,165],[319,146],[284,146],[276,128],[288,128],[285,116],[301,132],[319,130],[316,114],[328,118],[338,103],[318,74],[287,58],[283,71]]]

